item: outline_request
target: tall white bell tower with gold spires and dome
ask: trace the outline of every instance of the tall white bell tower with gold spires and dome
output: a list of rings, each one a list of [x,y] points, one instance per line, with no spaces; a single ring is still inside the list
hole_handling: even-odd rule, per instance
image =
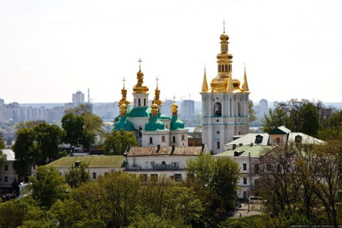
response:
[[[224,144],[234,135],[249,133],[249,88],[244,68],[244,81],[232,78],[232,54],[229,53],[229,36],[223,31],[221,53],[217,55],[217,76],[210,88],[206,71],[202,83],[202,140],[212,152],[224,151]]]

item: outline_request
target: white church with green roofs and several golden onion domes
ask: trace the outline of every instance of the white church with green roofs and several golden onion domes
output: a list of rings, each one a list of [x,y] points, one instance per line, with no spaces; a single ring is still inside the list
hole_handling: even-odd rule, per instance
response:
[[[130,101],[127,100],[124,81],[121,90],[122,99],[118,103],[120,115],[115,118],[113,130],[123,128],[126,131],[134,132],[140,146],[143,147],[156,147],[157,145],[162,147],[171,145],[177,147],[187,146],[187,133],[189,130],[178,119],[178,105],[175,100],[171,105],[171,118],[160,113],[162,100],[160,100],[158,83],[152,105],[149,107],[148,96],[150,93],[148,93],[148,87],[144,85],[141,60],[139,60],[139,63],[137,84],[133,86],[133,107],[130,107]]]

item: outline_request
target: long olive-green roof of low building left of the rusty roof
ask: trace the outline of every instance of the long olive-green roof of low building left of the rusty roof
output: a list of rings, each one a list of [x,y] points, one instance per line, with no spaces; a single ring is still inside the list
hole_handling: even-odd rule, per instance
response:
[[[75,162],[81,161],[88,164],[88,167],[125,167],[126,161],[123,156],[75,156],[61,157],[60,159],[49,163],[47,166],[54,167],[73,167]]]

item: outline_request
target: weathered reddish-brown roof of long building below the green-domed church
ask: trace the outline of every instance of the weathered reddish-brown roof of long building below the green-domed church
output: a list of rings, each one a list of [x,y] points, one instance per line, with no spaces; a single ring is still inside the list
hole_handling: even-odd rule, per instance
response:
[[[171,147],[160,147],[158,150],[157,147],[130,147],[128,152],[125,152],[125,155],[128,157],[133,157],[133,151],[135,156],[160,156],[160,155],[190,155],[197,156],[202,152],[202,146],[199,147],[175,147],[172,150]],[[209,152],[207,146],[204,146],[204,151]]]

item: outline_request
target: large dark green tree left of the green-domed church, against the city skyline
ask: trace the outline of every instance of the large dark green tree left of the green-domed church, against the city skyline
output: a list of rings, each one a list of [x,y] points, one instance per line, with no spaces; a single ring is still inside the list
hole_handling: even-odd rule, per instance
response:
[[[95,142],[96,135],[102,135],[103,120],[91,113],[89,105],[81,104],[78,108],[65,111],[62,128],[66,130],[64,141],[70,145],[79,147],[83,145],[90,148]]]

